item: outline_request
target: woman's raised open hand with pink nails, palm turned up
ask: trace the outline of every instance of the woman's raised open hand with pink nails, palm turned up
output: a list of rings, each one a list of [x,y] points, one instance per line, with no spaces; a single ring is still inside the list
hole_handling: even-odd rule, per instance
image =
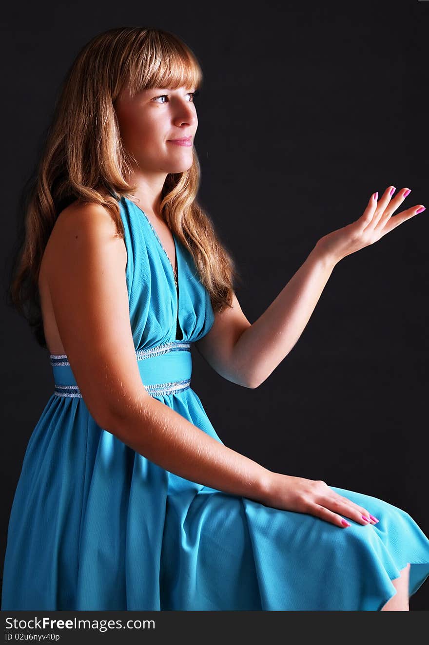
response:
[[[328,253],[334,262],[338,262],[350,253],[374,244],[399,224],[425,210],[425,206],[417,204],[417,206],[401,210],[395,217],[392,217],[411,190],[402,188],[395,197],[392,197],[394,192],[395,186],[388,186],[379,201],[377,201],[378,192],[373,193],[368,201],[368,206],[359,219],[324,235],[317,242],[317,246]]]

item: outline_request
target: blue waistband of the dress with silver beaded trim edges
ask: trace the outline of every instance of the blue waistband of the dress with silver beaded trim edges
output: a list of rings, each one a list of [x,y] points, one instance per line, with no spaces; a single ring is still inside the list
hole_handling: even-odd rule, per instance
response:
[[[139,362],[139,372],[149,395],[174,394],[190,387],[192,372],[190,345],[188,341],[170,341],[156,347],[136,350],[135,357]],[[55,396],[82,397],[67,355],[50,354],[50,364],[54,370]],[[161,381],[162,376],[167,373],[173,377],[172,380]],[[150,382],[153,379],[156,382]]]

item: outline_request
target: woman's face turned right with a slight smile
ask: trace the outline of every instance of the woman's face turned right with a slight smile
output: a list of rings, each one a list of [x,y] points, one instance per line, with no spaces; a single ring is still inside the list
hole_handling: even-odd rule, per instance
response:
[[[115,101],[125,148],[141,172],[180,173],[192,166],[192,148],[198,126],[194,88],[154,88],[130,97],[128,88]],[[190,137],[190,145],[172,139]]]

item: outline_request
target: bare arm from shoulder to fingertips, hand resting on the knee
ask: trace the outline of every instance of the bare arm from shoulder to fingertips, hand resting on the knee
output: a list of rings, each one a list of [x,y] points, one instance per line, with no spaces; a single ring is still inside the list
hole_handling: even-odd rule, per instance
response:
[[[365,523],[361,513],[366,511],[324,482],[267,470],[146,392],[130,326],[125,243],[115,237],[103,206],[68,206],[45,255],[59,335],[88,411],[101,428],[189,481],[311,513],[337,526],[343,526],[337,512]]]

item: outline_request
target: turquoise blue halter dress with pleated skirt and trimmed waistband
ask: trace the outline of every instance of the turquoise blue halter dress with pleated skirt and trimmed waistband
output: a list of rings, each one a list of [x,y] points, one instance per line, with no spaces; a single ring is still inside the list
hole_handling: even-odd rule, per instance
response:
[[[152,224],[119,201],[135,356],[146,389],[210,437],[190,345],[214,323],[192,255],[174,272]],[[177,339],[179,321],[183,338]],[[429,540],[401,508],[331,486],[379,519],[340,528],[188,481],[94,421],[66,355],[28,446],[8,526],[2,610],[381,610]]]

